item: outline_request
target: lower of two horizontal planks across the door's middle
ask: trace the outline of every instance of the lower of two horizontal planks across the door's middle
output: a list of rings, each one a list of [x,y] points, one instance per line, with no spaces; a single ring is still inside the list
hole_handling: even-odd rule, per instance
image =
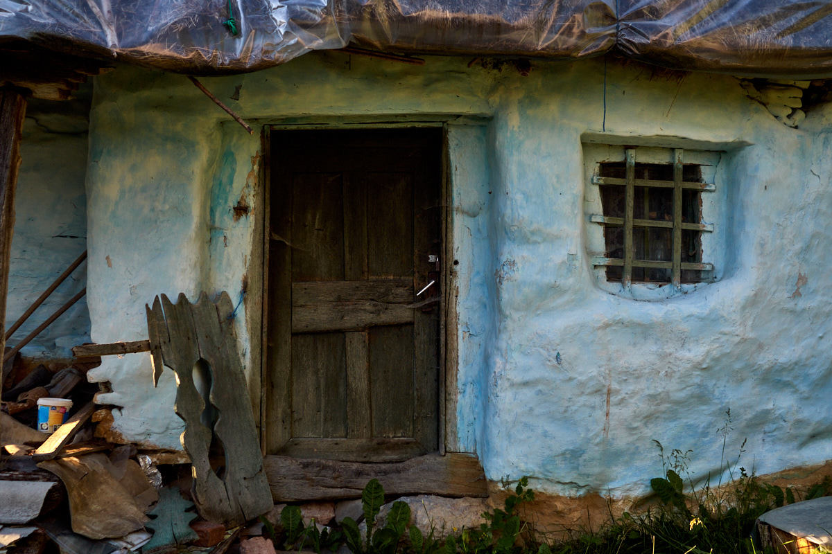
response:
[[[293,333],[364,331],[370,326],[413,323],[414,309],[384,302],[333,302],[321,306],[297,306],[292,310]]]

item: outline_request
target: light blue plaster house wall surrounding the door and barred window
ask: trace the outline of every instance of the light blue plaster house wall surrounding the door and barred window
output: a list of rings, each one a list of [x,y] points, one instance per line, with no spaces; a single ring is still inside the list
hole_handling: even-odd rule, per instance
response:
[[[319,52],[202,81],[259,125],[449,120],[459,262],[450,432],[458,449],[478,453],[489,479],[528,475],[547,493],[637,494],[661,473],[654,439],[691,449],[691,472],[716,477],[728,409],[726,455],[735,458],[747,438],[740,464],[749,470],[830,458],[829,108],[790,129],[730,76],[602,60],[534,61],[522,76],[467,58],[428,57],[419,67]],[[225,289],[238,298],[260,271],[250,265],[263,209],[260,139],[184,76],[121,67],[95,85],[92,340],[131,341],[146,337],[144,306],[156,294]],[[716,263],[716,282],[653,302],[597,285],[586,140],[724,152],[720,206],[706,213],[715,239],[703,256]],[[241,198],[250,212],[235,219]],[[250,300],[238,330],[256,409]],[[154,390],[149,357],[125,355],[90,377],[111,381],[114,392],[99,401],[121,406],[115,425],[126,437],[179,445],[171,371]]]

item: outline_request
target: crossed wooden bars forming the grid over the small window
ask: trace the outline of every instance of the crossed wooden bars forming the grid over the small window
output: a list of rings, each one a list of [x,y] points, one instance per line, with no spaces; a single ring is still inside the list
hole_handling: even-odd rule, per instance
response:
[[[636,179],[636,150],[628,148],[625,150],[626,178],[599,177],[592,178],[592,184],[624,186],[624,217],[612,218],[604,215],[593,215],[590,221],[613,227],[623,226],[624,228],[624,258],[596,257],[592,261],[593,266],[618,266],[623,267],[622,284],[630,287],[632,282],[633,267],[649,267],[655,269],[670,269],[671,282],[674,287],[681,287],[681,272],[685,270],[713,271],[711,263],[682,262],[681,261],[681,232],[699,231],[711,233],[714,226],[709,223],[683,223],[682,218],[682,190],[692,189],[700,192],[713,192],[716,185],[708,183],[694,183],[682,180],[682,169],[684,168],[684,150],[676,148],[673,150],[673,180],[661,181],[654,179]],[[634,219],[633,208],[635,203],[636,187],[652,187],[673,189],[673,220],[654,221],[652,219]],[[646,189],[649,190],[649,189]],[[673,229],[673,252],[671,262],[657,262],[651,260],[633,259],[632,229],[634,227],[671,228]]]

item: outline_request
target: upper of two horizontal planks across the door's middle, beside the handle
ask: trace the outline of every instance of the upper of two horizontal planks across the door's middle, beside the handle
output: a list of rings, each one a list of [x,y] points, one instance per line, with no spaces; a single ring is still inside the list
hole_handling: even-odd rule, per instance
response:
[[[413,301],[413,295],[412,278],[292,283],[293,307],[320,306],[329,302],[406,304]]]

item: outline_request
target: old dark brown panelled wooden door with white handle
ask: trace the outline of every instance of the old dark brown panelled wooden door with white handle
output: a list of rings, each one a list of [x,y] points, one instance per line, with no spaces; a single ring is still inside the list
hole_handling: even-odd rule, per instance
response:
[[[271,134],[267,451],[438,449],[441,130]],[[431,280],[433,287],[416,294]]]

